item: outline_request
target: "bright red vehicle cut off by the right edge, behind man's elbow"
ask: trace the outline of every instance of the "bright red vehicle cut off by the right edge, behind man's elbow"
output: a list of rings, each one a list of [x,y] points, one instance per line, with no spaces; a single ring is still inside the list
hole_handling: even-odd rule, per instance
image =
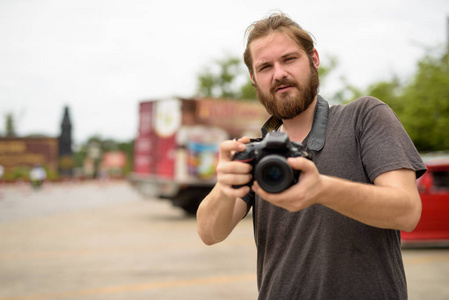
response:
[[[449,155],[423,156],[428,171],[418,179],[421,220],[412,232],[402,232],[404,246],[449,246]]]

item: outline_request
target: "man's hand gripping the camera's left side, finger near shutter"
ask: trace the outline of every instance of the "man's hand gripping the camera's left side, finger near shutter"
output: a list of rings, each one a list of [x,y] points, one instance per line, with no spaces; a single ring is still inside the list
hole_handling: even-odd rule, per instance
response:
[[[217,186],[227,197],[235,199],[242,198],[250,191],[248,186],[235,189],[233,185],[247,184],[252,175],[250,174],[252,166],[238,161],[233,161],[232,157],[236,151],[245,150],[245,144],[250,140],[243,137],[237,141],[224,141],[220,145],[220,152],[217,165]]]

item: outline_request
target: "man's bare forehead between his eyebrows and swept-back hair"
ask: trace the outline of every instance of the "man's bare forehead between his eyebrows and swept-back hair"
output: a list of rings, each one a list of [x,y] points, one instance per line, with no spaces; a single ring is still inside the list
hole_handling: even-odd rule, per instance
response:
[[[254,64],[270,61],[291,52],[304,52],[285,32],[272,32],[252,41],[250,51]]]

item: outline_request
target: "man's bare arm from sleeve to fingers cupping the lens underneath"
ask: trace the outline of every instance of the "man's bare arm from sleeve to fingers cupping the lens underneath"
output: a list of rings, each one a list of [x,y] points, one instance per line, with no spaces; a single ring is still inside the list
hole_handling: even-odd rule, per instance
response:
[[[372,185],[321,175],[304,158],[289,158],[289,163],[302,171],[298,184],[283,193],[268,194],[255,183],[254,192],[289,211],[322,204],[374,227],[412,231],[418,224],[422,206],[412,170],[385,172]]]

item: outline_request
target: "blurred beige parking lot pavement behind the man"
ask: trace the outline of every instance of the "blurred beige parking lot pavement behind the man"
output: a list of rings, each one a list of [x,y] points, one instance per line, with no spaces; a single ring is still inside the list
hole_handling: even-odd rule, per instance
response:
[[[256,299],[252,221],[205,246],[192,217],[126,182],[0,192],[0,300]],[[404,249],[409,299],[449,299],[449,249]]]

